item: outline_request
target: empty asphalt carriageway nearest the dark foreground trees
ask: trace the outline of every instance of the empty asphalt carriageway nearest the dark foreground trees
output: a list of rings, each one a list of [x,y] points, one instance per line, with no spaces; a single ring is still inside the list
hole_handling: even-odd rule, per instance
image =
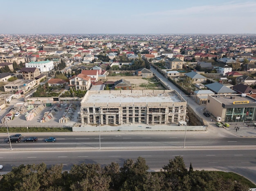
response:
[[[50,143],[52,144],[52,143]],[[168,160],[175,156],[182,156],[187,168],[190,162],[196,170],[221,170],[233,171],[256,182],[255,149],[141,149],[141,150],[97,150],[97,151],[2,151],[0,160],[4,168],[0,173],[11,170],[13,166],[21,164],[38,164],[45,162],[47,165],[63,164],[63,170],[70,170],[73,164],[100,163],[108,165],[117,162],[123,165],[128,158],[136,160],[141,156],[146,159],[151,171],[162,169]]]

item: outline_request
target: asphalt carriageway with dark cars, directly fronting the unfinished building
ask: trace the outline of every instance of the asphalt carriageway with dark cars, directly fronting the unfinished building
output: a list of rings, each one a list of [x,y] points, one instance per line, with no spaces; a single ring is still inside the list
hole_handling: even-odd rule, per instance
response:
[[[29,136],[38,137],[36,142],[24,142]],[[56,142],[45,143],[45,138],[56,137]],[[10,149],[6,142],[7,134],[0,134],[0,149]],[[99,133],[65,133],[65,134],[36,134],[25,133],[20,143],[12,143],[13,149],[65,149],[99,147]],[[184,132],[101,132],[101,148],[120,147],[170,147],[177,149],[184,146]],[[249,147],[256,148],[256,139],[239,136],[214,136],[204,132],[186,132],[186,147]]]

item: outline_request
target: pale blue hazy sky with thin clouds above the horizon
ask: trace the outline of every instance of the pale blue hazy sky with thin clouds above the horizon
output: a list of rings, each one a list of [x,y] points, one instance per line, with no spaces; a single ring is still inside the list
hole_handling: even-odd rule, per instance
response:
[[[256,0],[0,0],[0,34],[256,33]]]

